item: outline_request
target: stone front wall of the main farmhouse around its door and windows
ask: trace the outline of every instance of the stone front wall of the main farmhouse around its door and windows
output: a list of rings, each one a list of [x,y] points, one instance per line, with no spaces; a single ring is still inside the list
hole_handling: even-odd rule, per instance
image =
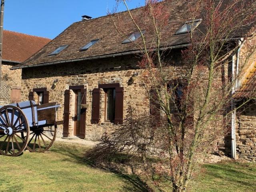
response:
[[[181,66],[173,65],[172,76],[181,77]],[[130,83],[134,73],[138,72],[138,78]],[[84,85],[87,88],[86,103],[86,140],[97,140],[102,134],[114,124],[104,121],[104,91],[100,95],[100,121],[91,124],[92,114],[92,90],[98,88],[98,84],[119,83],[124,87],[124,117],[128,105],[137,110],[138,113],[149,112],[149,99],[142,84],[142,70],[138,68],[136,56],[122,56],[115,58],[98,59],[83,62],[56,64],[38,68],[24,68],[22,70],[22,100],[28,100],[28,94],[33,88],[47,88],[49,91],[49,102],[58,102],[61,107],[58,110],[59,120],[63,119],[64,91],[69,86]],[[56,87],[52,86],[54,80],[58,79]],[[70,108],[72,108],[70,102]],[[70,118],[72,111],[70,111]],[[70,120],[70,136],[73,128]],[[61,137],[63,127],[58,129]]]

